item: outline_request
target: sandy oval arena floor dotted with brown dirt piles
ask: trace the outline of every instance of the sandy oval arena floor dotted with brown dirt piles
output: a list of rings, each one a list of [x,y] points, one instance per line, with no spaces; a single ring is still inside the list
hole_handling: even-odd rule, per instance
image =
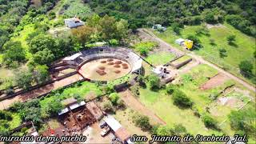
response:
[[[110,81],[129,74],[129,63],[115,58],[102,58],[87,62],[79,72],[94,81]]]

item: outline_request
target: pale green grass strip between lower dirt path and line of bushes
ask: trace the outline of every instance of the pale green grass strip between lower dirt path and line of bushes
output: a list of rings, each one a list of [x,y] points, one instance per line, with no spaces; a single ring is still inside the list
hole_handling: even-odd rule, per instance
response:
[[[190,134],[219,134],[218,131],[208,130],[201,119],[194,116],[192,110],[182,110],[174,106],[171,97],[165,91],[153,92],[149,89],[141,89],[139,99],[168,126],[182,124]]]

